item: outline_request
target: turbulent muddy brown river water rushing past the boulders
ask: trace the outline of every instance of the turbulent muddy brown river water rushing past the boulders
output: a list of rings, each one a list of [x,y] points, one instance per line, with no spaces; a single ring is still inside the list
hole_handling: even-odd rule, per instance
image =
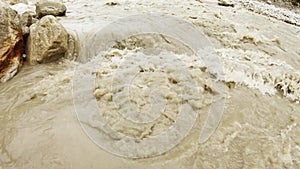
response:
[[[120,1],[116,6],[105,1],[65,3],[69,12],[60,21],[77,36],[81,54],[76,62],[25,64],[16,77],[0,84],[0,169],[300,168],[299,27],[214,1],[176,1],[176,6],[147,1]],[[215,69],[206,67],[191,45],[149,32],[114,41],[111,48],[99,45],[99,39],[107,39],[103,34],[97,38],[97,32],[108,23],[141,13],[175,15],[202,31],[215,47],[211,50],[222,65],[217,80],[226,87],[226,100],[220,123],[218,118],[210,122],[217,128],[205,136],[208,140],[201,141],[201,131],[212,98],[220,91],[212,84]],[[92,85],[82,81],[87,75],[96,79]],[[92,88],[85,88],[88,85]],[[101,117],[89,114],[94,110],[91,102],[100,107]],[[79,114],[76,105],[96,120],[80,119],[85,114]],[[141,114],[132,113],[136,110]],[[170,145],[150,142],[143,151],[133,150],[130,145],[136,142],[115,134],[99,136],[107,131],[105,125],[95,127],[103,119],[113,131],[142,143],[182,119],[177,126],[186,127],[177,129],[188,132],[169,135]],[[155,123],[141,123],[153,119]],[[125,141],[113,143],[116,140]]]

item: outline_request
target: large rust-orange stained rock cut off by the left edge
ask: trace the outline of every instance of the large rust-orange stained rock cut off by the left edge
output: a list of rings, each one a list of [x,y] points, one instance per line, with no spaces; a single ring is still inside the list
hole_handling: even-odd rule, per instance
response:
[[[0,82],[11,79],[21,68],[23,51],[19,16],[0,2]]]

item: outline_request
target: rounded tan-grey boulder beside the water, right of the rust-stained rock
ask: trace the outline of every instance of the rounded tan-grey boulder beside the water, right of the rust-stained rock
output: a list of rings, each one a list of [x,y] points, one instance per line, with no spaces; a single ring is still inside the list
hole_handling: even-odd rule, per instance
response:
[[[43,17],[30,26],[26,45],[29,63],[47,63],[63,57],[68,49],[68,37],[68,32],[54,16]]]

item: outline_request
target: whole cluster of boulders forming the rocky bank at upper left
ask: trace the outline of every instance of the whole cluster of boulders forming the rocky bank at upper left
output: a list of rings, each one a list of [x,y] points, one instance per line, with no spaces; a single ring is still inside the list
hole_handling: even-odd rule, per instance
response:
[[[10,1],[10,4],[18,5],[18,2]],[[62,57],[76,58],[74,37],[55,18],[65,16],[67,8],[62,2],[41,1],[35,4],[35,12],[17,13],[1,1],[0,10],[1,82],[13,78],[23,61],[34,65]]]

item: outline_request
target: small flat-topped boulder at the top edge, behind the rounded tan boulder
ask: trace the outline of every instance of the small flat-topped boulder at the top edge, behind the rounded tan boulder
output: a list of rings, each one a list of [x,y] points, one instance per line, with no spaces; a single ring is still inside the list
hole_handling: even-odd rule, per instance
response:
[[[38,18],[46,15],[64,16],[67,8],[60,1],[42,1],[36,4],[35,11]]]

